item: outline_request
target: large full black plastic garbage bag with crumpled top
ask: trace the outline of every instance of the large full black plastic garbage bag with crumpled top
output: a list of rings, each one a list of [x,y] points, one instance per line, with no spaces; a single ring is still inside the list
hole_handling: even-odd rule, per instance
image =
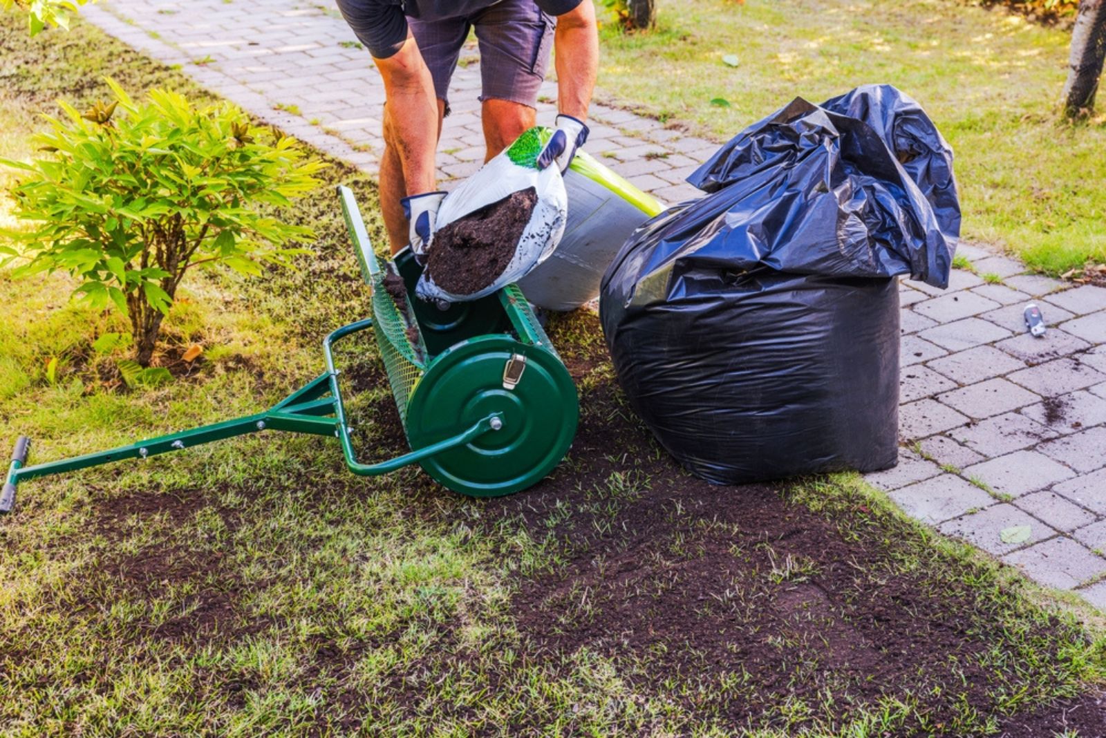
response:
[[[645,223],[599,315],[630,403],[692,473],[739,484],[897,461],[897,275],[943,287],[952,154],[909,97],[793,103]]]

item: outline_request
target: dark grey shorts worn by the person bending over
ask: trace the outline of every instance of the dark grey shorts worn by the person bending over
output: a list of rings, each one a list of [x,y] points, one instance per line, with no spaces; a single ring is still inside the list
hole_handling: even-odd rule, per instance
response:
[[[407,18],[411,35],[434,77],[434,92],[449,114],[449,78],[461,46],[476,28],[480,44],[480,101],[505,99],[538,106],[538,88],[545,78],[556,19],[534,0],[500,0],[470,15],[437,21]]]

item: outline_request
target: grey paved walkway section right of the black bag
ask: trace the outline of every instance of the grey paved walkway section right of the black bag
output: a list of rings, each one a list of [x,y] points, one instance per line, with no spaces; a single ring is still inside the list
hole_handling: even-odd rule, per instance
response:
[[[868,475],[910,515],[1106,608],[1106,288],[961,244],[947,291],[901,292],[900,463]],[[1022,310],[1035,303],[1047,333]],[[1103,580],[1103,581],[1099,581]]]

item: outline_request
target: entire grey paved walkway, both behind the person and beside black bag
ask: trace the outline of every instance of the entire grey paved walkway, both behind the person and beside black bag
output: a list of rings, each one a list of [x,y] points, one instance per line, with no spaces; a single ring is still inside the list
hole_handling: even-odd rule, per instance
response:
[[[107,0],[85,18],[288,134],[375,173],[384,89],[333,4]],[[483,160],[479,59],[467,49],[439,146],[448,188]],[[658,81],[658,84],[660,82]],[[552,124],[556,86],[542,91]],[[665,201],[717,148],[609,105],[587,150]],[[948,291],[902,283],[901,463],[869,475],[910,515],[1106,608],[1106,288],[1025,273],[962,244]],[[1033,338],[1022,309],[1050,325]]]

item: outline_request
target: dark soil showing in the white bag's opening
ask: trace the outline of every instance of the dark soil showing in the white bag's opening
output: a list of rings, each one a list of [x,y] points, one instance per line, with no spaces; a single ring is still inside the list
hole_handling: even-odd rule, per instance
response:
[[[439,229],[430,242],[427,273],[455,295],[471,295],[507,268],[538,204],[534,188],[474,210]]]

